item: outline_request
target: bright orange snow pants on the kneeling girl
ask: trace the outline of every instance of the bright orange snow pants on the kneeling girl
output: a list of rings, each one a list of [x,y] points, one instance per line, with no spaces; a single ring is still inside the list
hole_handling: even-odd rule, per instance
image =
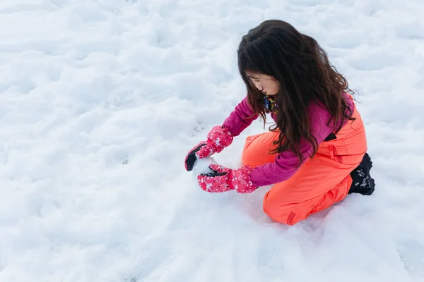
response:
[[[320,212],[343,200],[352,184],[351,171],[360,164],[367,151],[362,118],[349,121],[335,140],[324,141],[317,154],[308,158],[288,180],[273,185],[264,197],[264,212],[274,221],[294,225],[310,214]],[[267,132],[247,137],[242,164],[261,166],[273,162],[276,155],[272,142],[278,133]]]

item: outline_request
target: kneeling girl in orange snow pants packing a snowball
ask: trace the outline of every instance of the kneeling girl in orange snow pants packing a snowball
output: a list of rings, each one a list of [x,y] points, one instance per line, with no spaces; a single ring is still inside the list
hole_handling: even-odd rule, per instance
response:
[[[265,124],[270,114],[275,125],[247,137],[242,167],[209,166],[211,173],[197,178],[201,189],[250,193],[273,185],[264,212],[288,225],[348,193],[371,195],[363,121],[348,82],[319,44],[288,23],[266,20],[242,37],[237,57],[247,97],[187,154],[187,171],[196,159],[221,152],[259,116]]]

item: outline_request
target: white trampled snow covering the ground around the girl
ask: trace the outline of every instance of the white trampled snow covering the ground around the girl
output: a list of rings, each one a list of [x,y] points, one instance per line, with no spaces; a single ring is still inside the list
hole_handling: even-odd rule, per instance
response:
[[[184,170],[269,18],[358,92],[377,183],[295,226],[269,187],[211,195]],[[0,26],[1,282],[424,281],[423,1],[1,0]]]

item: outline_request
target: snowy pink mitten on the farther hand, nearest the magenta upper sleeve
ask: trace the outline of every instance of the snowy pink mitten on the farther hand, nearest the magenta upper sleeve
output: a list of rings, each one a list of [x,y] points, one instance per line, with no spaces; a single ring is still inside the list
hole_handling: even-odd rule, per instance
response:
[[[221,152],[232,143],[234,137],[224,125],[216,125],[208,133],[208,139],[200,142],[189,151],[184,164],[187,171],[192,171],[196,159],[203,159],[211,154]]]

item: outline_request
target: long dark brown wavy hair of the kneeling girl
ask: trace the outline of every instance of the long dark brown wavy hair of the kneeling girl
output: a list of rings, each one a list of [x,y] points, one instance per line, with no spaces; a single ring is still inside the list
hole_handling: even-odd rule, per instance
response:
[[[276,96],[278,113],[276,124],[271,131],[279,130],[277,145],[273,153],[286,150],[293,152],[303,161],[300,142],[305,138],[313,147],[310,157],[316,154],[318,144],[310,132],[307,108],[311,102],[318,102],[331,113],[330,126],[341,129],[341,121],[355,120],[343,92],[353,92],[347,80],[331,65],[326,52],[317,41],[298,32],[282,20],[266,20],[249,30],[242,37],[237,49],[238,68],[247,87],[247,98],[254,109],[266,122],[264,93],[257,90],[247,77],[247,71],[270,75],[275,78],[280,91]],[[333,121],[333,125],[331,125]]]

